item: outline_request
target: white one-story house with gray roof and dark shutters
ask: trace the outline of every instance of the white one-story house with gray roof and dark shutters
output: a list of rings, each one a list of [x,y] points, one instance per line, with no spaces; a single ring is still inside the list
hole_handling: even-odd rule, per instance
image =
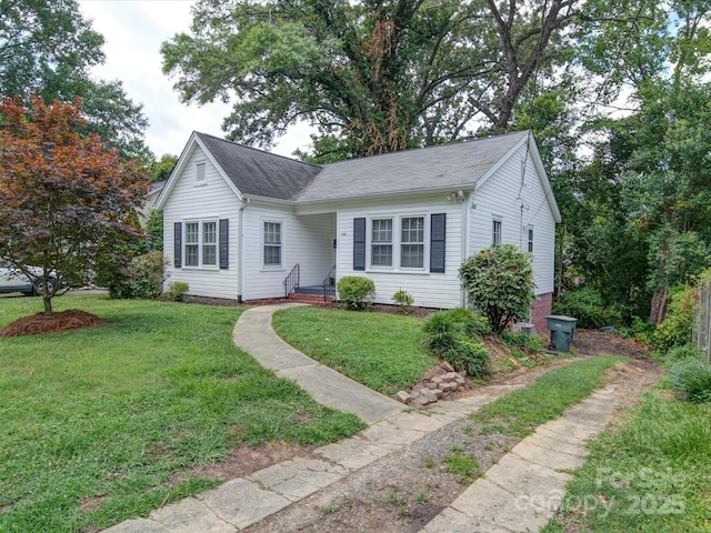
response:
[[[461,262],[512,243],[532,254],[539,329],[551,311],[560,212],[530,132],[326,165],[193,132],[156,208],[170,281],[190,294],[284,298],[363,275],[375,302],[403,289],[454,308]]]

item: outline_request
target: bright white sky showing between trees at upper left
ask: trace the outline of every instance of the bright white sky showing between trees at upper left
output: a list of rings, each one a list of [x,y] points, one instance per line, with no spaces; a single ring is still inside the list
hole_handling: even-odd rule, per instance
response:
[[[93,74],[120,80],[127,94],[143,105],[149,119],[148,147],[160,157],[180,154],[193,130],[223,137],[221,123],[230,112],[222,102],[183,104],[162,72],[161,44],[176,33],[188,31],[193,0],[80,0],[81,12],[104,37],[106,63]],[[274,148],[290,155],[309,144],[307,127],[297,127]]]

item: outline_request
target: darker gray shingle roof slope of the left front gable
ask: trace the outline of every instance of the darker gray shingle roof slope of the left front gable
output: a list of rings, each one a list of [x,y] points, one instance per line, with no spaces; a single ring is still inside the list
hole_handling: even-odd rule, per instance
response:
[[[321,167],[196,132],[214,160],[243,194],[296,199]]]

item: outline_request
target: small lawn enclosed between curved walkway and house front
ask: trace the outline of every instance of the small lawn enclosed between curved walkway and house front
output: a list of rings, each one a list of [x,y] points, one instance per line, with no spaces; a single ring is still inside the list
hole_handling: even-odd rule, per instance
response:
[[[437,363],[421,343],[422,321],[385,313],[296,308],[274,313],[274,331],[310,358],[392,395]]]

